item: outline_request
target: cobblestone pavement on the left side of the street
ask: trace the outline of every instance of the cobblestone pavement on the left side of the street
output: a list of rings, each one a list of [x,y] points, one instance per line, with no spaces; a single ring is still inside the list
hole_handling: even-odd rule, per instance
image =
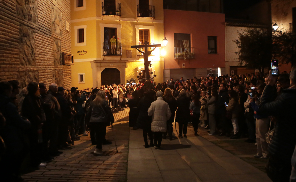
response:
[[[55,157],[46,167],[22,176],[27,181],[108,181],[123,182],[127,178],[129,109],[114,113],[113,130],[118,148],[116,153],[111,126],[107,127],[106,139],[113,144],[103,145],[103,156],[94,156],[95,145],[91,145],[90,135],[82,136],[71,150]]]

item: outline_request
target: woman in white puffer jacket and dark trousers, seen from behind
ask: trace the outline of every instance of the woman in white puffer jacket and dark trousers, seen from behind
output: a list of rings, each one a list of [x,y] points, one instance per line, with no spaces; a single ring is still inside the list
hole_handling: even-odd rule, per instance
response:
[[[166,122],[170,119],[171,112],[168,103],[166,103],[162,96],[163,92],[156,92],[157,100],[151,103],[148,109],[148,116],[152,116],[151,130],[154,135],[154,146],[156,149],[160,149],[162,141],[162,134],[166,132]]]

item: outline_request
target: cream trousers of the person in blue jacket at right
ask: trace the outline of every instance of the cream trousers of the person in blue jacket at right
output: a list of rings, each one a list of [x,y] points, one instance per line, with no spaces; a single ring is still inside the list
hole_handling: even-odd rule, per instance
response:
[[[268,132],[270,118],[256,119],[256,140],[258,155],[268,155],[268,143],[265,134]]]

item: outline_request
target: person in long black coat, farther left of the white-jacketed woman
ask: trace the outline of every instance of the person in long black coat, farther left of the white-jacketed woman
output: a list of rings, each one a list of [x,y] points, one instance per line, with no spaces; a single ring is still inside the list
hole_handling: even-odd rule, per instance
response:
[[[136,130],[137,119],[139,116],[138,104],[140,102],[138,90],[134,91],[131,96],[132,98],[127,103],[128,107],[130,108],[128,124],[129,127],[133,127],[133,129]]]

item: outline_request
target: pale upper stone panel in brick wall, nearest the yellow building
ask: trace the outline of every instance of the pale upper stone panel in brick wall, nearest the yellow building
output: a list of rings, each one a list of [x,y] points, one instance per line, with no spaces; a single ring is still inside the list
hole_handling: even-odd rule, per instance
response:
[[[62,36],[62,12],[56,6],[52,6],[52,33]]]

